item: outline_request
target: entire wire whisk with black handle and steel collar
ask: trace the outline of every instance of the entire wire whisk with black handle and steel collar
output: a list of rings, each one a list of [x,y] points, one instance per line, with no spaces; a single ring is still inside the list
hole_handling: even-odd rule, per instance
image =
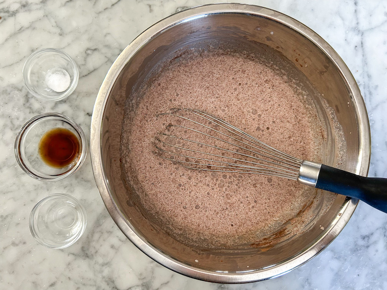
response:
[[[155,154],[192,170],[261,174],[360,199],[387,212],[387,179],[368,178],[281,152],[197,109],[161,113],[170,122],[155,137]]]

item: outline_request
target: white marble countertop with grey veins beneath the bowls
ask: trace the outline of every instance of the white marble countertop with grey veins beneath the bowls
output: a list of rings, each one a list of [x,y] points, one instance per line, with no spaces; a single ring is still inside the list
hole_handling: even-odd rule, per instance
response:
[[[168,270],[138,250],[110,218],[88,158],[62,181],[27,176],[14,156],[19,128],[42,112],[72,117],[90,135],[98,89],[117,55],[158,20],[211,0],[0,0],[0,289],[387,289],[387,214],[363,202],[342,233],[319,255],[283,276],[222,285]],[[215,2],[215,1],[214,1]],[[309,26],[342,56],[365,99],[372,135],[369,176],[387,177],[387,2],[247,0]],[[42,102],[27,92],[22,67],[37,49],[69,53],[79,84],[66,100]],[[69,193],[86,208],[81,239],[47,249],[30,234],[34,204]]]

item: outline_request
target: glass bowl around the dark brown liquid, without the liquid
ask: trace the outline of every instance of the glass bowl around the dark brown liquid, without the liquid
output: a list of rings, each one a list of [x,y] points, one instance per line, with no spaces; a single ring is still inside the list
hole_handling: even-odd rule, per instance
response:
[[[79,152],[74,161],[64,167],[47,165],[39,153],[43,135],[54,128],[65,128],[76,136]],[[61,180],[72,175],[84,163],[87,154],[87,139],[82,128],[69,117],[58,113],[43,113],[30,119],[19,130],[15,140],[15,156],[20,167],[31,177],[41,181]]]

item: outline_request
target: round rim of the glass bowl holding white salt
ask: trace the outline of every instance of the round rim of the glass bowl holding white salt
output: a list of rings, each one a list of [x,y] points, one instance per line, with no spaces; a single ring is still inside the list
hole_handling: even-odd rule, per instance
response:
[[[58,93],[58,95],[56,97],[47,97],[45,95],[42,95],[42,94],[39,94],[38,92],[36,92],[32,87],[31,87],[31,84],[27,81],[28,80],[28,77],[27,77],[27,74],[28,74],[28,70],[31,66],[31,62],[38,56],[42,55],[42,54],[47,54],[47,53],[58,53],[58,54],[61,54],[62,56],[64,56],[68,61],[69,63],[72,64],[73,68],[74,68],[74,77],[73,77],[73,80],[69,86],[69,88],[66,89],[66,91],[63,91],[61,93]],[[40,100],[44,100],[44,101],[51,101],[51,102],[56,102],[56,101],[60,101],[60,100],[63,100],[63,99],[66,99],[67,97],[69,97],[73,92],[74,90],[77,88],[77,85],[78,85],[78,81],[79,81],[79,69],[78,69],[78,65],[77,63],[74,61],[74,59],[67,53],[67,52],[64,52],[63,50],[60,50],[60,49],[57,49],[57,48],[51,48],[51,47],[48,47],[48,48],[42,48],[40,50],[36,50],[34,51],[26,60],[26,62],[24,63],[23,65],[23,69],[22,69],[22,75],[23,75],[23,82],[24,82],[24,85],[26,86],[27,90],[36,98],[40,99]]]

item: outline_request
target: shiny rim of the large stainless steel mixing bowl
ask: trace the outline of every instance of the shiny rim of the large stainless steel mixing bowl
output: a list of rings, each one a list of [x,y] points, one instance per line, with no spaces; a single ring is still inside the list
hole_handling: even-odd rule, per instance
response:
[[[347,224],[352,213],[354,212],[358,200],[347,198],[346,203],[342,208],[341,215],[337,216],[335,223],[326,232],[326,234],[313,245],[311,245],[306,251],[298,254],[286,262],[257,271],[240,273],[213,272],[198,269],[193,266],[187,266],[169,256],[164,255],[161,251],[154,248],[147,241],[143,240],[136,233],[136,230],[125,222],[125,219],[121,215],[120,210],[116,207],[114,199],[108,189],[109,186],[107,184],[107,177],[104,173],[102,164],[102,117],[107,103],[107,97],[109,96],[110,91],[124,65],[137,53],[138,50],[141,49],[141,47],[146,45],[150,39],[152,39],[155,35],[160,34],[162,31],[180,22],[188,21],[189,19],[219,13],[252,14],[255,16],[266,17],[278,23],[284,24],[290,29],[306,37],[330,58],[330,60],[336,65],[336,68],[339,69],[344,80],[346,81],[352,93],[354,106],[357,108],[356,118],[359,120],[359,155],[358,166],[356,167],[356,171],[354,173],[363,176],[367,175],[371,148],[368,115],[364,100],[360,93],[360,89],[342,58],[324,39],[322,39],[317,33],[299,21],[268,8],[244,4],[210,4],[181,11],[154,24],[143,33],[141,33],[135,40],[133,40],[132,43],[126,46],[126,48],[121,52],[121,54],[110,67],[95,101],[90,131],[90,155],[94,178],[109,214],[120,230],[125,234],[125,236],[130,239],[132,243],[134,243],[141,251],[165,267],[192,278],[221,283],[244,283],[265,280],[283,275],[301,266],[316,256],[320,251],[325,249],[343,230],[344,226]]]

